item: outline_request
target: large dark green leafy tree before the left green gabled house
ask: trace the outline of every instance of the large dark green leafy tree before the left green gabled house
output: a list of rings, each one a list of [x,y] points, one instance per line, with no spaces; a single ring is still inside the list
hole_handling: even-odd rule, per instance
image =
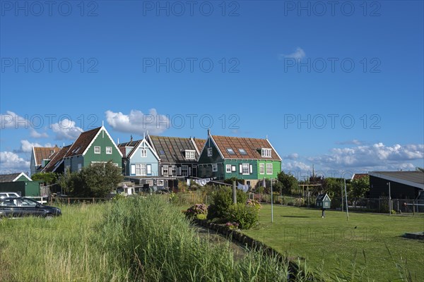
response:
[[[124,178],[121,169],[112,161],[86,166],[79,173],[70,173],[66,177],[70,192],[80,197],[105,197]]]

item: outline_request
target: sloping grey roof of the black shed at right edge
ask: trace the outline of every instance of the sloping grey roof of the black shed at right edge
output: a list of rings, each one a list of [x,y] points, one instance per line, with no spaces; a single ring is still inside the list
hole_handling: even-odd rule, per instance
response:
[[[370,176],[424,189],[423,171],[370,171]]]

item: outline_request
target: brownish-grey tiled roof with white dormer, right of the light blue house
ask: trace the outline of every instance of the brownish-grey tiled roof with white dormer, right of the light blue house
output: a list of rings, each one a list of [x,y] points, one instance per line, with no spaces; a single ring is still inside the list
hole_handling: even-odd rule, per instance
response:
[[[147,136],[160,161],[165,164],[194,163],[199,157],[191,138]],[[186,159],[185,151],[193,150],[195,159]]]

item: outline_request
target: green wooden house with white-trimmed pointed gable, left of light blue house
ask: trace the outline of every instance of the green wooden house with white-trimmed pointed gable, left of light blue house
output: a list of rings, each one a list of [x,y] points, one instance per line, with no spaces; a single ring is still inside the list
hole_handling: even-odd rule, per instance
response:
[[[104,126],[85,131],[64,154],[64,170],[81,171],[84,166],[107,163],[122,167],[122,153]],[[52,161],[50,161],[52,162]],[[60,164],[56,164],[60,166]]]

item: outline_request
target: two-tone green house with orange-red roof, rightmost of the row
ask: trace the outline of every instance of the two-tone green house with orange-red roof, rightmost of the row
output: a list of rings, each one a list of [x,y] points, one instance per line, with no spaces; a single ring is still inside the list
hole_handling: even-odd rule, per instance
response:
[[[264,178],[276,178],[281,157],[266,139],[211,135],[204,143],[198,160],[200,178],[244,179],[255,186]]]

